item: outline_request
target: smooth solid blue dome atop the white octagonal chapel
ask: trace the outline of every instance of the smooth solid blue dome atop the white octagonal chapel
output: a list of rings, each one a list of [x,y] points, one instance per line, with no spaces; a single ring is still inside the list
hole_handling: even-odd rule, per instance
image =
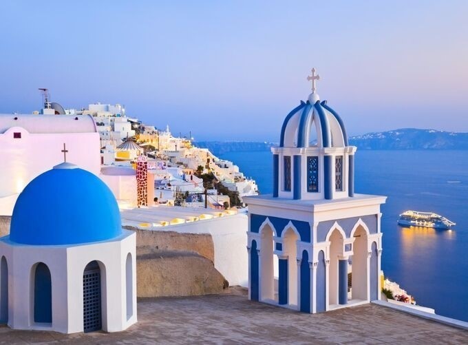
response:
[[[62,163],[32,180],[14,205],[10,240],[32,245],[96,242],[122,233],[114,194],[97,176]]]

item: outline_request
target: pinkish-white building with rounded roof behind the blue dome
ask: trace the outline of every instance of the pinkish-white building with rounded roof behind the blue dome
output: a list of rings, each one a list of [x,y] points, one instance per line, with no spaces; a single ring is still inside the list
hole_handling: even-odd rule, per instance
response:
[[[92,116],[0,114],[0,214],[11,216],[19,193],[39,174],[68,157],[100,172],[99,134]]]

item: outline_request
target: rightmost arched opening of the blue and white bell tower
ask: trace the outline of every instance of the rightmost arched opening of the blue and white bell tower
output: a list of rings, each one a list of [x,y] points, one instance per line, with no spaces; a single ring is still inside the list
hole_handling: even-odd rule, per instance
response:
[[[359,225],[352,244],[352,300],[368,300],[368,233]]]

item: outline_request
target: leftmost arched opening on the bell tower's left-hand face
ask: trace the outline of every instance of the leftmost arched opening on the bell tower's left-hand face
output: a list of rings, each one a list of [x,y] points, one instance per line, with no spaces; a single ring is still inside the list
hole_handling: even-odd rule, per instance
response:
[[[261,231],[260,247],[260,299],[275,300],[275,277],[273,266],[273,229],[265,225]]]

